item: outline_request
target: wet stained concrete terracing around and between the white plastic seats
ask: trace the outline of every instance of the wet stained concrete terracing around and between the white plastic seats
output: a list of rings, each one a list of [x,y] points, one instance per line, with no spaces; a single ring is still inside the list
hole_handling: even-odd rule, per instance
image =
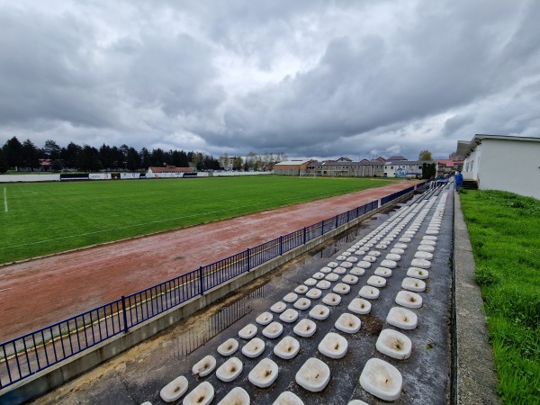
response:
[[[437,191],[437,193],[440,192]],[[284,333],[276,339],[267,339],[266,349],[263,355],[257,359],[249,359],[240,353],[241,347],[246,341],[238,338],[238,330],[248,323],[255,323],[257,316],[278,301],[284,295],[302,284],[304,280],[326,266],[329,261],[334,261],[339,252],[351,247],[357,240],[365,237],[371,230],[377,228],[396,211],[380,214],[375,219],[353,230],[353,233],[337,238],[317,251],[312,251],[303,257],[277,269],[272,275],[257,280],[247,289],[239,291],[235,296],[229,297],[224,302],[212,305],[210,308],[198,313],[196,316],[185,320],[165,333],[152,338],[144,344],[134,347],[129,352],[118,356],[110,362],[97,367],[92,372],[67,383],[54,392],[35,401],[35,403],[59,403],[59,404],[86,404],[86,403],[115,403],[115,404],[138,404],[150,401],[153,404],[164,403],[159,398],[159,391],[166,383],[172,381],[178,375],[184,375],[189,381],[189,391],[202,381],[208,381],[216,391],[212,403],[219,402],[233,387],[241,386],[250,395],[252,403],[271,404],[277,396],[284,391],[292,391],[297,394],[306,404],[347,404],[352,399],[359,399],[370,404],[384,403],[374,398],[360,386],[358,378],[362,373],[365,363],[369,358],[378,357],[395,365],[403,376],[403,390],[401,397],[394,403],[397,404],[443,404],[449,403],[450,395],[450,293],[451,271],[450,255],[452,249],[452,226],[453,226],[453,198],[448,196],[443,223],[437,240],[436,254],[429,270],[429,278],[426,280],[427,290],[420,293],[424,305],[415,311],[419,316],[417,329],[406,331],[412,341],[412,356],[407,360],[393,360],[376,351],[375,341],[383,328],[388,328],[385,319],[388,311],[393,306],[396,293],[401,291],[401,281],[410,266],[414,253],[419,245],[419,240],[424,235],[431,218],[430,215],[424,220],[419,232],[409,244],[407,250],[398,262],[398,267],[393,270],[392,277],[387,279],[387,285],[381,289],[381,296],[374,300],[372,311],[368,315],[358,315],[362,320],[362,328],[353,335],[344,334],[334,327],[340,314],[347,312],[347,305],[355,297],[356,293],[374,270],[384,259],[390,248],[398,242],[396,238],[387,250],[382,250],[373,266],[366,270],[365,275],[360,276],[358,284],[352,286],[351,293],[342,296],[342,302],[337,307],[330,308],[329,319],[316,321],[317,332],[312,338],[301,338],[293,333],[294,324],[284,325]],[[396,207],[399,209],[400,207]],[[407,228],[405,228],[407,229]],[[403,229],[403,231],[405,230]],[[401,235],[403,234],[401,231]],[[348,273],[348,272],[347,272]],[[334,285],[333,283],[332,285]],[[264,293],[259,288],[265,285]],[[323,296],[329,290],[323,291]],[[247,293],[254,293],[251,298],[242,300]],[[322,297],[321,297],[322,299]],[[321,302],[312,300],[311,308]],[[238,302],[242,300],[238,309]],[[236,307],[234,307],[236,305]],[[246,309],[247,306],[247,309]],[[288,307],[292,307],[288,304]],[[230,308],[236,308],[230,310]],[[216,336],[212,337],[209,324],[215,320],[219,312],[235,312],[229,320],[223,320],[227,329],[217,330]],[[242,316],[238,316],[241,311]],[[300,318],[308,317],[308,312],[299,311]],[[238,320],[235,321],[235,317]],[[275,315],[275,320],[277,316]],[[263,338],[263,327],[257,326],[257,337]],[[390,327],[392,328],[392,327]],[[393,329],[393,328],[392,328]],[[337,332],[347,338],[347,356],[342,359],[330,359],[320,354],[317,346],[320,339],[329,331]],[[301,351],[292,360],[283,360],[275,356],[273,348],[284,336],[293,336],[301,343]],[[193,337],[202,337],[201,342],[193,346]],[[220,343],[228,338],[237,338],[240,343],[237,356],[244,363],[244,371],[237,380],[232,383],[222,383],[215,376],[215,372],[204,378],[196,378],[191,373],[192,366],[203,356],[212,355],[218,360],[220,366],[226,358],[220,356],[216,349]],[[202,346],[201,346],[202,345]],[[189,347],[186,349],[186,347]],[[189,353],[186,355],[186,353]],[[258,389],[247,380],[249,371],[257,363],[269,357],[279,365],[279,375],[276,382],[267,389]],[[329,385],[319,393],[310,393],[300,387],[294,381],[296,372],[310,357],[317,357],[330,367],[331,379]],[[182,403],[182,399],[176,403]]]

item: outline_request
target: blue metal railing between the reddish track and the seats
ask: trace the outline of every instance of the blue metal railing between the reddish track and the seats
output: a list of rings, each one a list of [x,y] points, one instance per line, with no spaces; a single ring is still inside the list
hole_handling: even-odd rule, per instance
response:
[[[417,184],[401,192],[387,195],[381,200],[381,205],[425,185],[425,183]],[[211,265],[201,266],[165,283],[154,285],[139,293],[122,296],[93,310],[4,342],[0,344],[0,389],[120,333],[128,332],[139,323],[202,295],[205,291],[249,272],[378,207],[378,201],[368,202],[257,247],[247,248]]]

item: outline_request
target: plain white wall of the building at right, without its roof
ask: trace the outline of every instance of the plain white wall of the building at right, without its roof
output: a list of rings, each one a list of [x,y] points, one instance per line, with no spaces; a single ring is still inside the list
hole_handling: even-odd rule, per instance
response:
[[[481,190],[540,199],[540,142],[482,139],[482,159],[476,156],[474,165]]]

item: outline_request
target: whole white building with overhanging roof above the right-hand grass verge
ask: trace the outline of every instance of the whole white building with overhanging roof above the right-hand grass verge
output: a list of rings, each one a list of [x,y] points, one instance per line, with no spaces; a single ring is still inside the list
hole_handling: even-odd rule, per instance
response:
[[[464,180],[480,190],[501,190],[540,199],[540,138],[474,135],[457,141]]]

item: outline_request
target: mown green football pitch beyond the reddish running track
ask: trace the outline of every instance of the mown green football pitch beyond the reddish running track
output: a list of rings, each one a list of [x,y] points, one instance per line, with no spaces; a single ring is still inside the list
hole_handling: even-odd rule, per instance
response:
[[[392,183],[242,176],[1,184],[0,263]]]

